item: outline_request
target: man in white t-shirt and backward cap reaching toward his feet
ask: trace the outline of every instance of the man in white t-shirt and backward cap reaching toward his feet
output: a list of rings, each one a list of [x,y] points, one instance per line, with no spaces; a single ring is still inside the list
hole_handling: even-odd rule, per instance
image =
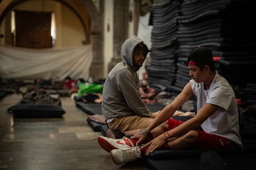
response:
[[[228,81],[216,72],[214,62],[210,49],[193,49],[187,59],[192,79],[147,128],[130,139],[98,137],[101,147],[111,152],[114,163],[135,161],[155,150],[242,148],[236,96]],[[197,114],[185,122],[171,118],[192,95],[197,97]]]

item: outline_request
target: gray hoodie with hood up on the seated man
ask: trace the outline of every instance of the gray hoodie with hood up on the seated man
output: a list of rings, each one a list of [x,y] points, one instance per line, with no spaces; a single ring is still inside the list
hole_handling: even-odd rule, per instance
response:
[[[109,72],[103,86],[101,109],[103,115],[109,118],[140,115],[151,118],[151,113],[139,94],[139,76],[133,65],[135,46],[142,39],[132,36],[122,44],[122,62]]]

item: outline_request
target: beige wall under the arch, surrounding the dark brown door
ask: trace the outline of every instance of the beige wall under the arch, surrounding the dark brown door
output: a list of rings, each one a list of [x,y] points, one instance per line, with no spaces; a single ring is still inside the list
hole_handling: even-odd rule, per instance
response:
[[[56,42],[55,47],[82,46],[82,41],[85,40],[85,32],[79,18],[68,7],[56,1],[25,1],[14,7],[14,10],[32,10],[54,12],[56,17]],[[10,20],[2,22],[0,33],[6,28],[7,23],[11,24]],[[8,28],[9,29],[9,28]],[[6,30],[5,30],[6,32]],[[6,38],[10,37],[5,35]],[[10,41],[1,39],[1,44],[9,44]],[[11,45],[11,44],[9,44]]]

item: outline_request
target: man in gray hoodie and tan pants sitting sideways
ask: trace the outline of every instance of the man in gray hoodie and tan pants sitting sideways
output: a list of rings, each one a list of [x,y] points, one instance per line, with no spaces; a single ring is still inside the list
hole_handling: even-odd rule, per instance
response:
[[[122,44],[122,61],[109,72],[103,86],[101,109],[108,124],[107,137],[122,138],[134,134],[134,129],[147,127],[153,115],[139,94],[139,76],[148,47],[142,39],[132,36]]]

